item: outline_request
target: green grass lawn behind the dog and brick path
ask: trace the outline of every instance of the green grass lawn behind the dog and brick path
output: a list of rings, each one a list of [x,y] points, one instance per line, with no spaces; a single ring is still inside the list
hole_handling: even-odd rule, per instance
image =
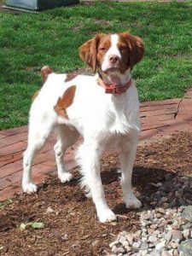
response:
[[[40,14],[0,13],[0,130],[27,124],[39,70],[85,67],[81,44],[97,32],[143,38],[146,54],[133,70],[141,101],[183,96],[192,84],[192,3],[93,3]]]

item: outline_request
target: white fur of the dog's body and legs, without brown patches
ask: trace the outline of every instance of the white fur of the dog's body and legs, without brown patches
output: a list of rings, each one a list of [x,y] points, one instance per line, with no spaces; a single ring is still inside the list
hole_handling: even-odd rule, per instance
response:
[[[114,49],[112,44],[112,49],[109,50],[113,53]],[[128,71],[123,79],[130,79],[130,76]],[[37,191],[32,182],[32,160],[53,130],[57,134],[55,160],[58,177],[62,183],[69,181],[72,175],[67,172],[63,154],[80,134],[84,137],[84,143],[79,147],[77,159],[83,175],[82,185],[90,193],[100,221],[111,221],[116,216],[105,200],[100,176],[100,158],[106,148],[114,146],[119,151],[122,162],[121,185],[126,207],[141,207],[141,202],[131,190],[131,173],[139,131],[137,89],[132,82],[125,93],[113,96],[106,94],[104,88],[97,84],[97,75],[79,75],[69,82],[64,82],[65,79],[66,74],[49,74],[38,97],[32,103],[28,146],[23,161],[22,188],[26,193]],[[58,98],[72,85],[76,85],[76,92],[73,104],[67,108],[68,119],[65,119],[55,113],[54,107]]]

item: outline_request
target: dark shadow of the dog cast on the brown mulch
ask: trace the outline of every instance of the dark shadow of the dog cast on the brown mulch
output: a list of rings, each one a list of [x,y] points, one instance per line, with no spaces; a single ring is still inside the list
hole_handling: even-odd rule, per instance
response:
[[[132,188],[135,195],[137,195],[137,198],[143,203],[141,211],[143,211],[143,209],[146,209],[146,207],[148,209],[154,209],[154,207],[156,207],[155,205],[151,204],[152,201],[154,201],[155,193],[159,189],[158,187],[155,187],[155,184],[165,183],[167,173],[169,172],[160,168],[148,168],[143,166],[134,167],[132,175]],[[71,180],[69,183],[63,184],[64,186],[79,186],[80,176],[79,172],[77,172],[77,169],[73,174],[73,180]],[[121,173],[119,172],[118,166],[114,166],[112,168],[109,168],[108,170],[102,170],[101,176],[102,184],[105,189],[105,194],[108,198],[111,198],[111,200],[109,199],[109,204],[113,207],[113,211],[117,214],[125,214],[134,211],[125,207],[125,204],[123,203],[123,198],[121,203],[117,203],[116,201],[116,198],[123,197],[122,189],[120,188]],[[172,177],[176,176],[176,174],[172,174]],[[60,184],[58,180],[56,183]],[[81,192],[79,191],[79,189],[74,189],[74,193],[72,195],[67,195],[67,199],[81,202],[87,200],[84,195],[83,189],[81,189]],[[138,212],[139,210],[136,211]]]

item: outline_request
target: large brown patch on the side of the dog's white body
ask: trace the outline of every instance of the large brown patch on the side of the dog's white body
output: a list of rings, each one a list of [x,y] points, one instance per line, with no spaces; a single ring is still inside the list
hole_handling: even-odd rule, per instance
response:
[[[67,108],[72,105],[73,98],[75,96],[76,85],[72,85],[71,87],[67,88],[64,92],[63,96],[60,97],[54,107],[55,112],[68,119],[67,116]]]

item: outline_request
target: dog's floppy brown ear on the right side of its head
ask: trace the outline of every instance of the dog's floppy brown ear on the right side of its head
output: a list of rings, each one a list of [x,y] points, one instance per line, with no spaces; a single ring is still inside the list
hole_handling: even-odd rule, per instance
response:
[[[122,37],[124,37],[127,41],[127,44],[130,49],[130,67],[131,69],[137,62],[143,59],[144,55],[144,44],[143,39],[139,37],[132,36],[128,32],[120,33]]]

